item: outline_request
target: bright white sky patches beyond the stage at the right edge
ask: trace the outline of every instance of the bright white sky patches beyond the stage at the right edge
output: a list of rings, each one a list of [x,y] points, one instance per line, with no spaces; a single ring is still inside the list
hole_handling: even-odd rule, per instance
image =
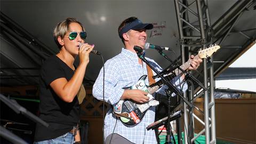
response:
[[[229,67],[254,67],[256,68],[256,44],[247,50],[240,58],[233,62]],[[233,90],[244,90],[256,92],[256,78],[252,79],[234,79],[215,81],[216,88],[225,88]]]

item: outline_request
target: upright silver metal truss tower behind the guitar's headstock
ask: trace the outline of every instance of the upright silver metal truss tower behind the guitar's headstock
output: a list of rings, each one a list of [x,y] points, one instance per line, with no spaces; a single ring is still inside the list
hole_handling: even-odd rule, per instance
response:
[[[196,51],[198,47],[203,49],[206,44],[211,44],[211,22],[209,17],[209,9],[205,1],[179,1],[175,0],[175,10],[177,14],[177,22],[179,27],[180,35],[180,46],[181,46],[181,62],[186,62],[186,58],[189,59],[191,51]],[[213,58],[211,57],[210,62]],[[213,65],[210,67],[210,85],[208,85],[208,73],[207,73],[207,60],[203,60],[203,71],[204,71],[204,86],[210,87],[210,103],[209,103],[209,92],[204,90],[204,122],[193,114],[193,109],[200,110],[197,107],[188,108],[186,103],[183,103],[183,120],[184,120],[184,141],[185,143],[193,143],[193,141],[201,134],[205,134],[206,143],[215,143],[215,107],[213,97]],[[192,90],[193,91],[193,90]],[[193,101],[194,94],[185,93],[184,97],[188,98],[189,101]],[[211,115],[209,113],[211,111]],[[210,116],[209,116],[210,115]],[[204,129],[194,137],[193,123],[196,118],[200,123],[204,125]],[[209,119],[211,119],[211,124]],[[211,129],[211,137],[210,137]],[[181,143],[181,139],[178,141]]]

